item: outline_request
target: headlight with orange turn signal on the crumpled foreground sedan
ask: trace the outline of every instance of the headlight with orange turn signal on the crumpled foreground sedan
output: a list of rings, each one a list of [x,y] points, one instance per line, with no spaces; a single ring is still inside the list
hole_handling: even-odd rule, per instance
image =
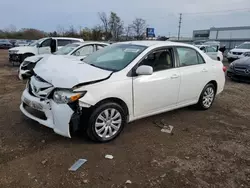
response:
[[[82,98],[87,91],[74,93],[72,90],[57,89],[54,91],[53,100],[58,104],[67,104]]]

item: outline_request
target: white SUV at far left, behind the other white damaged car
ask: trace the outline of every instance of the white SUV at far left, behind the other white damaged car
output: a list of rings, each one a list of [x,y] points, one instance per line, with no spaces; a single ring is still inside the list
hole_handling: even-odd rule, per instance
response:
[[[68,37],[42,38],[29,46],[20,46],[9,49],[9,61],[22,63],[26,57],[54,53],[62,46],[74,42],[83,42],[83,39]]]

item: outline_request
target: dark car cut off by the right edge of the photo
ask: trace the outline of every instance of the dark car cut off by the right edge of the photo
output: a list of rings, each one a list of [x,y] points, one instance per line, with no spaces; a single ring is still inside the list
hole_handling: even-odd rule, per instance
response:
[[[227,71],[232,80],[250,83],[250,57],[244,57],[232,62]]]

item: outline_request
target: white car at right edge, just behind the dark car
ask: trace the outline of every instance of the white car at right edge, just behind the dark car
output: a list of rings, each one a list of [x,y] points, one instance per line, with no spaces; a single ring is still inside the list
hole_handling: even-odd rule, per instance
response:
[[[234,49],[230,50],[227,54],[228,61],[232,62],[236,59],[244,57],[245,52],[250,52],[250,42],[244,42],[239,46],[236,46]]]

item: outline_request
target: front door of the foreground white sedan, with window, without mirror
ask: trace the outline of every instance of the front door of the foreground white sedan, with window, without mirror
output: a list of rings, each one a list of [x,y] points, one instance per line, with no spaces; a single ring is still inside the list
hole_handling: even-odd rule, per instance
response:
[[[140,65],[152,66],[153,74],[133,77],[134,116],[139,118],[175,107],[180,72],[175,67],[173,49],[153,51]]]

